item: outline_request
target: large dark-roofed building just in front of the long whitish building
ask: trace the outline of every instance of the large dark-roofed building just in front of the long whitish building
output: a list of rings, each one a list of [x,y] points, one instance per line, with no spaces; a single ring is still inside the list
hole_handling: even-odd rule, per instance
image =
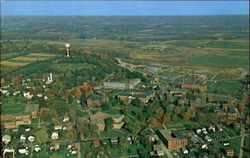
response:
[[[141,103],[144,104],[146,104],[154,96],[154,91],[136,89],[125,90],[117,95],[118,99],[124,101],[125,103],[130,103],[132,100],[137,98],[140,100]]]

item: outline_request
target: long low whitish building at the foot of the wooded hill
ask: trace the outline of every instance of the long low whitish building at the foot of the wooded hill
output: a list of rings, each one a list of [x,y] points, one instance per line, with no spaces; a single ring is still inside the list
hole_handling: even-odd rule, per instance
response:
[[[141,83],[141,79],[133,79],[126,82],[104,82],[104,88],[111,89],[134,89],[139,83]]]

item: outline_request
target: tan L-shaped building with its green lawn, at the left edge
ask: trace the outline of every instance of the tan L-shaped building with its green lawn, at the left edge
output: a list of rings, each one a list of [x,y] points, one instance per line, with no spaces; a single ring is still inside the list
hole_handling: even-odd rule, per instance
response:
[[[9,102],[1,108],[1,126],[15,128],[19,125],[31,124],[31,119],[38,115],[39,105]]]

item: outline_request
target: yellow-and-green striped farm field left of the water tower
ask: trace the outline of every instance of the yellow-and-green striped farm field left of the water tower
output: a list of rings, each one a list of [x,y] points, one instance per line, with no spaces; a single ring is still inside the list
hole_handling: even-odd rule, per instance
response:
[[[1,65],[19,67],[19,66],[28,65],[35,61],[46,60],[55,56],[56,56],[55,54],[48,54],[48,53],[30,53],[28,55],[18,56],[15,58],[10,58],[10,59],[1,61]]]

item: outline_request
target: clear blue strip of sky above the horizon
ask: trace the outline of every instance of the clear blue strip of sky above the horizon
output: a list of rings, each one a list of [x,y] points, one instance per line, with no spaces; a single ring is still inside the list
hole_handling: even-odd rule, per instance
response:
[[[2,1],[1,15],[249,15],[249,1]]]

